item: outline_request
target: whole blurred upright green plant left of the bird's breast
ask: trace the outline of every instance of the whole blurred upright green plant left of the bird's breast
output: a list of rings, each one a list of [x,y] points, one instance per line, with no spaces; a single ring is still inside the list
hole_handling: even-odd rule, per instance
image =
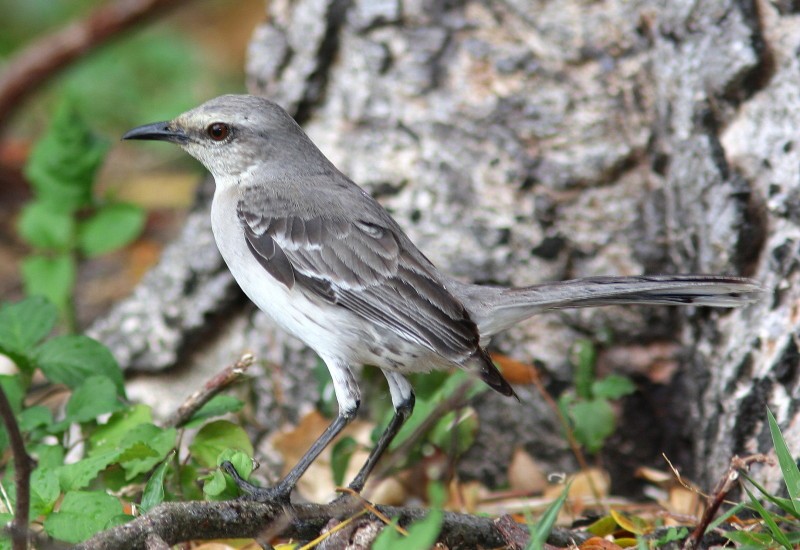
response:
[[[22,262],[25,292],[56,304],[71,330],[79,259],[121,248],[144,227],[141,208],[100,197],[95,190],[107,150],[107,142],[65,100],[25,166],[34,191],[17,223],[20,236],[32,248]]]

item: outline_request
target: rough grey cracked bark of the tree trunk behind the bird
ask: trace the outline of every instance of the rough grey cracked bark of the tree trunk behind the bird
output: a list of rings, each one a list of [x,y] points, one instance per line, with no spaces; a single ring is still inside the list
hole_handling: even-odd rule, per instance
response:
[[[667,451],[709,485],[731,455],[769,452],[767,405],[790,448],[800,447],[794,3],[269,4],[251,43],[251,91],[294,113],[442,269],[515,285],[745,273],[767,289],[761,303],[732,312],[541,316],[498,337],[496,349],[541,361],[558,387],[580,336],[679,339],[678,375],[646,386],[636,398],[644,408],[623,416],[629,426],[614,446],[635,449],[637,465]],[[236,298],[205,209],[207,199],[93,333],[128,368],[182,366],[141,379],[134,396],[159,386],[177,394],[176,378],[204,379],[204,368],[253,351],[269,365],[254,388],[260,420],[274,426],[313,403],[316,359]],[[186,393],[196,387],[181,380]],[[275,388],[290,397],[278,402]],[[462,475],[503,483],[516,446],[548,468],[574,468],[552,413],[532,390],[519,394],[522,403],[481,397],[481,433]],[[166,395],[152,395],[170,409]],[[778,475],[768,474],[773,487]]]

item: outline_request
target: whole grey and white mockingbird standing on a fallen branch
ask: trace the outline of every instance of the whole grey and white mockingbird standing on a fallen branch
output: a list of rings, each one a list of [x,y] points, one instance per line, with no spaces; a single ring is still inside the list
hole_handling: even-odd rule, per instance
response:
[[[749,279],[713,275],[596,277],[524,288],[462,283],[441,273],[397,222],[339,172],[278,105],[226,95],[123,139],[176,143],[213,174],[214,237],[247,296],[328,366],[339,413],[289,474],[256,499],[288,499],[309,464],[356,415],[353,365],[381,369],[394,416],[350,487],[363,485],[414,408],[405,374],[461,368],[503,395],[514,390],[484,347],[543,311],[611,304],[734,307]]]

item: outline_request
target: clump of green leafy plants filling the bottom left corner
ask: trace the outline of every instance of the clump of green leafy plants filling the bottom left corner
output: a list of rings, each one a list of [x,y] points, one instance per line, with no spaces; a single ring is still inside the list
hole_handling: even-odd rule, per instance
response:
[[[108,348],[85,335],[51,336],[57,315],[57,308],[40,297],[0,301],[0,354],[19,367],[16,374],[0,375],[0,387],[35,460],[30,519],[36,531],[75,544],[133,519],[123,512],[123,502],[135,504],[141,497],[142,508],[149,510],[165,501],[201,499],[201,481],[206,498],[235,496],[235,484],[216,467],[229,460],[249,476],[253,446],[241,424],[215,417],[239,410],[242,403],[217,396],[193,417],[200,428],[194,436],[158,426],[150,407],[127,401],[122,371]],[[53,411],[26,399],[36,371],[47,382],[69,388],[65,407]],[[185,437],[188,449],[180,445]],[[2,425],[0,455],[6,457],[0,501],[9,510],[16,504],[16,485]],[[0,513],[1,521],[10,519]],[[10,547],[8,538],[0,537],[0,550]]]

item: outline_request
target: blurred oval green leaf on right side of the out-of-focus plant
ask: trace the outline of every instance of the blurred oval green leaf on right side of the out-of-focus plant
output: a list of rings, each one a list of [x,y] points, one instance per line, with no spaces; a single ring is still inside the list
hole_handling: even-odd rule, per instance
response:
[[[145,212],[138,206],[111,203],[99,208],[78,226],[78,245],[86,256],[122,248],[142,232]]]

